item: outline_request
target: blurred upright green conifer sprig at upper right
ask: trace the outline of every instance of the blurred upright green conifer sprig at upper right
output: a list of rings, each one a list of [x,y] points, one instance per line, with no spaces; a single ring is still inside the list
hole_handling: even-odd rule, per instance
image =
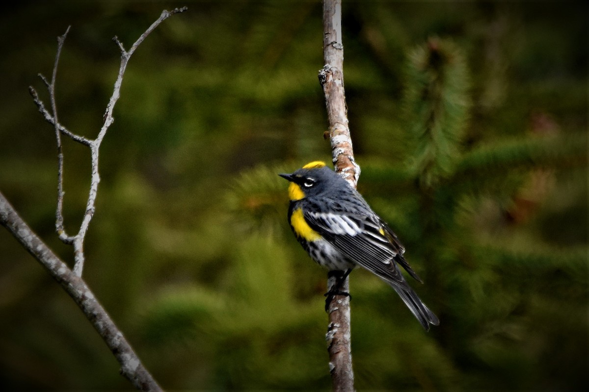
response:
[[[468,69],[454,43],[429,39],[409,55],[405,112],[414,143],[411,170],[423,187],[454,173],[468,120]]]

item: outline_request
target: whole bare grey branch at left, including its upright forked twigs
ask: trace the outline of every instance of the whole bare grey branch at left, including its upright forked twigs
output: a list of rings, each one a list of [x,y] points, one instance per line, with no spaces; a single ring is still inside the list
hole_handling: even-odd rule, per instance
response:
[[[107,312],[95,298],[94,294],[88,288],[84,280],[81,279],[82,269],[84,267],[84,239],[90,225],[92,216],[94,215],[94,205],[96,200],[96,194],[98,190],[98,183],[100,182],[100,176],[98,175],[98,149],[102,143],[102,139],[107,132],[108,127],[114,122],[112,117],[112,110],[120,96],[121,83],[123,82],[123,75],[127,63],[131,55],[137,49],[137,46],[143,42],[147,35],[153,31],[161,22],[166,20],[171,15],[177,14],[178,12],[186,11],[186,7],[176,8],[173,11],[163,11],[160,18],[157,19],[151,26],[135,41],[131,49],[127,52],[123,48],[123,44],[118,41],[115,37],[115,42],[121,50],[121,65],[118,72],[117,80],[115,81],[114,91],[108,102],[107,109],[104,114],[104,123],[96,139],[87,139],[84,136],[76,135],[70,132],[65,126],[61,125],[57,116],[57,101],[55,99],[55,82],[57,79],[57,69],[59,64],[59,57],[61,55],[61,49],[63,48],[65,38],[67,37],[70,27],[67,28],[64,35],[58,37],[57,53],[55,55],[55,63],[51,76],[51,81],[48,81],[43,75],[39,75],[41,80],[44,82],[49,93],[49,100],[51,101],[51,112],[45,109],[44,103],[39,99],[37,91],[34,88],[29,87],[29,92],[39,109],[39,112],[43,115],[47,122],[54,126],[55,139],[57,141],[57,152],[58,152],[58,195],[57,195],[57,209],[55,212],[55,229],[62,242],[72,244],[74,247],[74,269],[71,270],[67,264],[62,262],[52,251],[42,242],[41,239],[35,234],[30,227],[21,219],[16,213],[14,208],[10,205],[8,200],[0,193],[0,225],[6,227],[9,232],[32,254],[35,259],[41,263],[45,269],[51,274],[51,276],[57,280],[64,290],[74,299],[75,303],[78,304],[82,312],[85,314],[94,329],[98,331],[98,334],[105,341],[112,354],[117,358],[121,364],[121,374],[126,377],[133,385],[141,390],[160,391],[161,388],[157,382],[151,376],[151,374],[144,368],[143,364],[134,353],[130,344],[125,340],[125,337],[118,330],[117,326],[108,316]],[[64,173],[64,155],[62,152],[62,140],[61,136],[65,135],[75,142],[81,143],[84,146],[90,148],[91,153],[91,185],[90,192],[88,193],[88,201],[84,213],[84,218],[80,225],[80,230],[74,236],[69,236],[64,229],[64,217],[63,217],[63,201],[64,201],[64,190],[63,190],[63,173]]]

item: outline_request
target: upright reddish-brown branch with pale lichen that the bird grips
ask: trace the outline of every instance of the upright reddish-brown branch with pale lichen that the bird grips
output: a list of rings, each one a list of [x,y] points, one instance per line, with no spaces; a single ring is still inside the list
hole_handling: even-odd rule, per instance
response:
[[[319,82],[325,93],[329,139],[332,146],[335,170],[350,186],[356,187],[360,167],[354,160],[352,138],[348,128],[348,109],[343,88],[343,43],[342,43],[342,2],[323,0],[323,61],[319,71]],[[337,278],[343,272],[330,271],[327,290],[332,290]],[[340,284],[340,290],[349,292],[349,278]],[[350,298],[336,295],[329,303],[329,326],[326,340],[329,343],[329,367],[333,390],[349,392],[354,390],[352,350],[350,348]]]

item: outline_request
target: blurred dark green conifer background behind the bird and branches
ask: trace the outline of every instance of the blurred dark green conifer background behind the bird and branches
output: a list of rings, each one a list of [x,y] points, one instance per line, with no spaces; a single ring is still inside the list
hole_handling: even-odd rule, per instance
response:
[[[343,2],[359,190],[439,316],[352,273],[358,390],[587,390],[587,5]],[[330,160],[320,1],[22,1],[0,15],[0,190],[54,233],[54,133],[28,93],[101,146],[84,277],[168,390],[329,390],[326,272],[286,223],[276,176]],[[65,141],[77,231],[88,150]],[[0,387],[130,388],[81,311],[0,229]]]

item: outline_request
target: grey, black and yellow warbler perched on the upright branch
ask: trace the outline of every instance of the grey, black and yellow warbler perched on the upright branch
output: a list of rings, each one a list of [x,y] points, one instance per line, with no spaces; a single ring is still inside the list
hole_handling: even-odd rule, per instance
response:
[[[405,248],[356,189],[319,161],[280,176],[290,182],[290,227],[315,262],[345,271],[344,278],[362,266],[390,284],[426,330],[439,324],[399,269],[422,282],[403,257]]]

